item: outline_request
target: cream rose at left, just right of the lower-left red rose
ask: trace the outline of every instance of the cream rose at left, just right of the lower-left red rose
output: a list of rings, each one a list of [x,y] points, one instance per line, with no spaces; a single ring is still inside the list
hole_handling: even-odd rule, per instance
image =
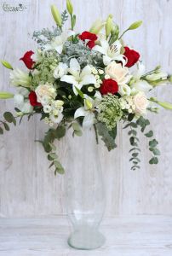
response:
[[[53,84],[40,84],[35,90],[37,95],[37,102],[42,105],[48,105],[49,101],[54,99],[56,96],[56,90]]]

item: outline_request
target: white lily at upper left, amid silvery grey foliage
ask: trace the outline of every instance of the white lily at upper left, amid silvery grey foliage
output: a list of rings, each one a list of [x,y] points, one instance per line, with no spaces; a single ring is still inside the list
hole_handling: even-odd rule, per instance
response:
[[[63,44],[66,43],[67,38],[73,36],[75,32],[69,30],[68,32],[62,32],[60,36],[53,38],[53,40],[44,46],[45,50],[55,49],[59,54],[63,50]]]

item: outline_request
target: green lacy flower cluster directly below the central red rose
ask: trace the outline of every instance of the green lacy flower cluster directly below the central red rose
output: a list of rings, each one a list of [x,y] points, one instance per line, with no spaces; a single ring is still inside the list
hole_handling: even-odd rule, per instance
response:
[[[104,123],[107,129],[111,131],[123,116],[123,110],[118,96],[113,96],[112,94],[103,96],[98,108],[100,113],[98,113],[97,119],[101,123]]]

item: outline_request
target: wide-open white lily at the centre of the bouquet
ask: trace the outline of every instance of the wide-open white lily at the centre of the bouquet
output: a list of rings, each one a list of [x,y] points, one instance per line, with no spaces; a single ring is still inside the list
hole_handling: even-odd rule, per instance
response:
[[[83,85],[96,83],[95,76],[91,73],[91,67],[87,65],[86,67],[83,67],[83,70],[81,71],[79,62],[75,58],[70,61],[68,73],[70,73],[70,75],[62,76],[60,81],[72,84],[75,95],[77,95],[76,87],[80,90]]]

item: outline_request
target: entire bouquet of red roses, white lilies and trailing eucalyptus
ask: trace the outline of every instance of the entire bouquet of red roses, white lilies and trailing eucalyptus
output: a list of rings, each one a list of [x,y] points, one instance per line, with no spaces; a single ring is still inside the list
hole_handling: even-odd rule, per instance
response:
[[[1,99],[14,98],[15,114],[5,112],[1,121],[0,133],[9,131],[9,124],[16,125],[16,119],[40,114],[41,120],[49,125],[42,141],[48,153],[50,166],[55,173],[63,173],[56,154],[55,139],[64,137],[71,128],[73,136],[82,136],[84,129],[95,128],[98,137],[108,150],[116,148],[117,125],[124,123],[129,129],[129,150],[131,169],[140,168],[139,138],[137,129],[149,140],[152,153],[150,164],[158,164],[160,154],[158,142],[153,138],[153,131],[147,127],[147,111],[158,113],[158,106],[172,109],[169,102],[159,102],[149,96],[158,85],[172,82],[172,77],[155,67],[145,73],[140,61],[140,54],[123,41],[125,32],[135,30],[141,21],[133,23],[124,32],[109,15],[106,21],[96,20],[89,31],[74,31],[76,15],[70,0],[66,1],[62,14],[52,5],[51,12],[56,26],[33,33],[37,49],[27,51],[20,58],[28,71],[13,68],[9,62],[3,66],[11,70],[10,83],[16,93],[1,92]],[[64,30],[64,24],[71,19],[71,27]]]

